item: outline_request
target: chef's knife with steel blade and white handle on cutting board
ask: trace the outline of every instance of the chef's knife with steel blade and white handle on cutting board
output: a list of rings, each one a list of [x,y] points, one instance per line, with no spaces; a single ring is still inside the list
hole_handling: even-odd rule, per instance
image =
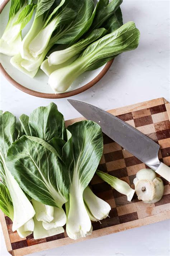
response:
[[[80,100],[68,101],[86,119],[98,123],[104,134],[170,182],[170,167],[159,161],[157,143],[103,109]]]

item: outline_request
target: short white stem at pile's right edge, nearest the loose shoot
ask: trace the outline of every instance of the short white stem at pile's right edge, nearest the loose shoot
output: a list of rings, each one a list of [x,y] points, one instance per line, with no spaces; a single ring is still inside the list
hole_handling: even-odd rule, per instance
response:
[[[110,205],[101,198],[97,197],[89,186],[86,187],[83,192],[83,199],[88,207],[88,210],[94,216],[94,219],[103,220],[108,217],[111,210]]]

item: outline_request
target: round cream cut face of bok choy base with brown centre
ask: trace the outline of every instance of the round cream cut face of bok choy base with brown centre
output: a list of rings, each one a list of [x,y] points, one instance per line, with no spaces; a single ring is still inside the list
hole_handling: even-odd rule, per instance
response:
[[[148,179],[138,180],[135,191],[139,200],[151,201],[155,197],[155,186],[153,181]]]

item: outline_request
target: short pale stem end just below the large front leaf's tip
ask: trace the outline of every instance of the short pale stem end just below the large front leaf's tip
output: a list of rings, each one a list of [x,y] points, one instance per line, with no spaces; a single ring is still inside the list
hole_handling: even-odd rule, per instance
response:
[[[50,223],[54,217],[54,207],[49,205],[44,205],[41,202],[38,202],[34,199],[32,199],[32,204],[34,207],[34,210],[36,211],[36,219],[38,221],[44,221],[45,223]]]

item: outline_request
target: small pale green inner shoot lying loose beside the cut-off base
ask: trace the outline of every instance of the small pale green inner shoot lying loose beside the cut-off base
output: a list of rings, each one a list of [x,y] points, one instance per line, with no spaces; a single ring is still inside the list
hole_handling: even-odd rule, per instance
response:
[[[128,183],[120,180],[112,175],[109,175],[103,171],[96,171],[96,174],[105,182],[107,182],[112,188],[117,190],[119,193],[127,196],[127,200],[130,202],[134,195],[135,190],[132,189]]]

